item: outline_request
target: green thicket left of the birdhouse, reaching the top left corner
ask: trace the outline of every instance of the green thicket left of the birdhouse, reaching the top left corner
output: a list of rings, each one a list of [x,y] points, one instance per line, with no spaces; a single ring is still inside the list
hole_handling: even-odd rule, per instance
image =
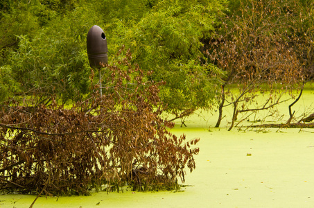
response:
[[[56,95],[66,103],[88,93],[85,34],[94,15],[88,12],[89,4],[58,10],[67,8],[63,1],[58,2],[53,6],[44,1],[12,1],[3,12],[0,101],[37,94]]]

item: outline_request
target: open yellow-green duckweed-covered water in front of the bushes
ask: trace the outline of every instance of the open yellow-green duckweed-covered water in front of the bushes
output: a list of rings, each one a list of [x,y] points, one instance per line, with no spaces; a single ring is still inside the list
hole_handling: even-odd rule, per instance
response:
[[[187,140],[200,137],[195,171],[180,192],[42,196],[33,207],[314,207],[314,130],[209,130],[216,118],[191,116],[186,128],[177,122],[172,130]],[[29,207],[35,198],[0,196],[0,207]]]

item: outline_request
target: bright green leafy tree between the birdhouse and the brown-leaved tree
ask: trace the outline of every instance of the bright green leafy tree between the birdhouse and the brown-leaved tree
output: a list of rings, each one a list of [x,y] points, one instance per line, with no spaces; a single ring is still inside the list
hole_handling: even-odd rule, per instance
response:
[[[134,62],[146,71],[154,71],[151,80],[166,81],[161,96],[175,118],[199,107],[210,107],[221,73],[203,61],[201,40],[213,34],[225,1],[146,2],[139,12],[141,19],[128,15],[107,25],[114,46],[125,44]],[[133,12],[130,8],[130,14]]]

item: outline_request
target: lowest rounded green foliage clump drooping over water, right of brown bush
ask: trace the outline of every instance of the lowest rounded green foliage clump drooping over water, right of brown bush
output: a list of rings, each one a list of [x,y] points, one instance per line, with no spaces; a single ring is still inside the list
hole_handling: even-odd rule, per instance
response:
[[[211,64],[200,65],[190,61],[186,64],[173,64],[171,70],[164,71],[159,80],[168,80],[161,89],[168,112],[178,116],[179,112],[209,107],[211,96],[216,94],[215,76],[220,69]]]

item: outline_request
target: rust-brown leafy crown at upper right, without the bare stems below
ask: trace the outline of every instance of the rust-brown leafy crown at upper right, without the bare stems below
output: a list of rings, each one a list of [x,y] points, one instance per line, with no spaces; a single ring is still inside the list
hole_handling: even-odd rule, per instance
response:
[[[209,58],[228,72],[228,83],[242,86],[293,85],[304,80],[302,64],[289,20],[291,3],[248,0],[241,13],[223,20],[220,35],[211,42]],[[289,12],[290,11],[290,12]]]

